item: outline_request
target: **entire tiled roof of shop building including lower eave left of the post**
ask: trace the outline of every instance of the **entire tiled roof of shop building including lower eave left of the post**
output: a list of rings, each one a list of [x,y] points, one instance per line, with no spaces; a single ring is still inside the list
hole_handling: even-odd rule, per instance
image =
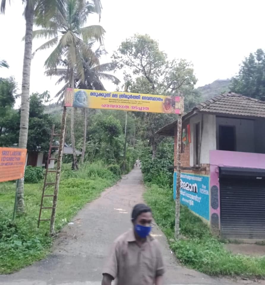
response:
[[[200,103],[183,115],[182,121],[196,113],[265,118],[265,102],[232,92],[224,93]],[[176,124],[177,121],[173,121],[157,131],[157,134],[173,136]]]

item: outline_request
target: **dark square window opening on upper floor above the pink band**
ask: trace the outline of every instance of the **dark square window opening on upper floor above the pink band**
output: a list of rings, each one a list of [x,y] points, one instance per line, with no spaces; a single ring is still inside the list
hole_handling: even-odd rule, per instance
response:
[[[235,126],[219,126],[219,150],[236,151]]]

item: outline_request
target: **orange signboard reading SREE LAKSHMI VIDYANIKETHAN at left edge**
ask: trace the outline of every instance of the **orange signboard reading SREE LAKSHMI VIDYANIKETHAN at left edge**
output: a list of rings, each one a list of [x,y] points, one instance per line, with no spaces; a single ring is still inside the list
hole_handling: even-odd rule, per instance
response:
[[[27,150],[0,148],[0,182],[23,178]]]

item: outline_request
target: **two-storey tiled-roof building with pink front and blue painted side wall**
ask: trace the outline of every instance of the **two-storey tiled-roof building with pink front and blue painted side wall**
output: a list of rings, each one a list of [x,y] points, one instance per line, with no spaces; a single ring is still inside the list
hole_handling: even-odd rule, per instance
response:
[[[157,133],[175,137],[177,121]],[[265,102],[218,95],[182,116],[180,201],[229,239],[265,240]]]

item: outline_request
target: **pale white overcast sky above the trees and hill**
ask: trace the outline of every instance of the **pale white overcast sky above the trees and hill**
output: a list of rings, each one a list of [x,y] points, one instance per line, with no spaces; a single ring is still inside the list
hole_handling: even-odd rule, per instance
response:
[[[0,59],[9,69],[1,68],[0,77],[13,75],[21,87],[25,20],[23,5],[17,1],[0,15]],[[110,60],[113,50],[135,33],[157,39],[169,58],[185,58],[194,64],[197,86],[233,76],[250,52],[264,49],[265,1],[258,0],[101,0],[100,24],[106,30],[105,48]],[[90,17],[88,25],[97,24]],[[33,50],[44,40],[34,40]],[[44,61],[51,50],[36,54],[31,63],[30,92],[49,90],[51,96],[60,89],[56,78],[45,77]],[[122,78],[120,78],[122,80]],[[112,91],[115,85],[105,83]]]

